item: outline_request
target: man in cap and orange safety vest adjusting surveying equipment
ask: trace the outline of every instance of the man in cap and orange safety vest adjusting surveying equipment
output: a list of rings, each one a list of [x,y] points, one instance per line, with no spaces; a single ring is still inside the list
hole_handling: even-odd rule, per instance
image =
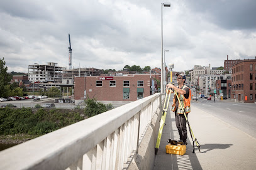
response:
[[[191,91],[189,90],[189,87],[184,85],[184,82],[186,81],[186,76],[179,73],[176,73],[176,76],[178,86],[175,87],[172,83],[169,83],[167,84],[167,88],[171,88],[171,93],[174,93],[174,91],[176,91],[177,95],[179,96],[179,99],[181,100],[181,104],[179,104],[177,96],[174,95],[172,111],[175,112],[175,122],[176,127],[179,130],[180,140],[182,140],[184,144],[187,144],[187,121],[186,117],[184,116],[184,112],[186,112],[187,116],[191,110]],[[184,109],[184,112],[182,110],[182,107]]]

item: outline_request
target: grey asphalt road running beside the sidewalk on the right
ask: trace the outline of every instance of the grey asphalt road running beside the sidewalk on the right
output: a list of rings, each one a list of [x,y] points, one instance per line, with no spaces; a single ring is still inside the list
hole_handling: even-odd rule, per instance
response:
[[[191,105],[256,138],[256,104],[237,103],[231,100],[216,100],[214,103],[214,100],[199,98],[198,101],[192,100]]]

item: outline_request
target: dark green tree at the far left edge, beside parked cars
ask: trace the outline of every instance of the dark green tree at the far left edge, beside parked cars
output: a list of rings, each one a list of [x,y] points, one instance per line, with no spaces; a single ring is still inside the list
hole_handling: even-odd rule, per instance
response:
[[[0,58],[0,97],[5,97],[3,94],[6,93],[5,90],[6,85],[11,81],[8,73],[7,73],[8,67],[5,66],[4,58]]]

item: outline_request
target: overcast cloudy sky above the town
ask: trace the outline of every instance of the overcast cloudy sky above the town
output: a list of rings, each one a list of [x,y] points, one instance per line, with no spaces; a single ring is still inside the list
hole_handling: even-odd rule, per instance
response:
[[[122,70],[160,67],[161,3],[165,62],[175,71],[223,66],[256,56],[255,0],[0,1],[0,57],[8,72],[34,63]]]

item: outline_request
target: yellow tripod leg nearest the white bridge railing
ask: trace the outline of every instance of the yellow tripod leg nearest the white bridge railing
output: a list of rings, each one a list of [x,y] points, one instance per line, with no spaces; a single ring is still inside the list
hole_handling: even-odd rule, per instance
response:
[[[168,106],[169,106],[169,102],[170,102],[170,90],[167,89],[167,93],[165,95],[165,100],[164,100],[163,114],[162,114],[162,117],[161,117],[161,120],[160,120],[159,135],[157,136],[157,144],[155,145],[155,155],[157,154],[158,149],[159,149],[159,145],[160,145],[160,141],[161,141],[161,137],[162,137],[162,132],[163,132],[163,129],[164,129],[164,124],[165,124],[165,118],[166,118],[167,110],[168,110]]]

